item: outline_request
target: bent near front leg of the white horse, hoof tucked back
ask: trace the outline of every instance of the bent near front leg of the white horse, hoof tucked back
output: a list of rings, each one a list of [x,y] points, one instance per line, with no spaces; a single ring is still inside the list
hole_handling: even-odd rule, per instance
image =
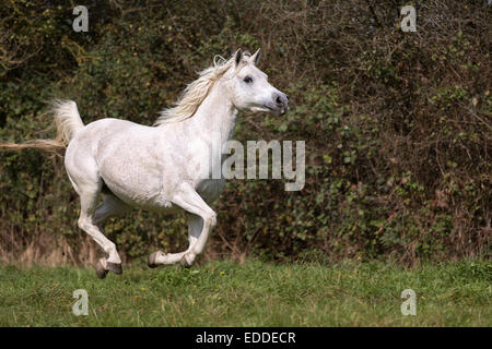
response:
[[[179,186],[172,202],[190,213],[188,218],[189,248],[180,253],[154,252],[149,256],[148,264],[150,267],[178,262],[185,266],[190,266],[196,256],[203,252],[210,231],[215,226],[215,213],[189,183]]]

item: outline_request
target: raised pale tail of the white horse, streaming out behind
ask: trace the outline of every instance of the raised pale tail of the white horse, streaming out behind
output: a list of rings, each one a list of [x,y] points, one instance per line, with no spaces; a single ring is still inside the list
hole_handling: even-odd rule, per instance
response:
[[[73,100],[56,99],[51,103],[51,112],[55,117],[57,136],[54,140],[32,140],[24,143],[0,143],[0,148],[21,151],[36,148],[45,152],[60,153],[84,124],[80,118],[77,104]]]

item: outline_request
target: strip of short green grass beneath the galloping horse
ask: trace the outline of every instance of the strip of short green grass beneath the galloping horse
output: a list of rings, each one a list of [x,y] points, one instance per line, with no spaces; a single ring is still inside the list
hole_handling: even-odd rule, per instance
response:
[[[405,289],[417,315],[403,316]],[[89,315],[75,316],[75,289]],[[492,264],[456,262],[406,270],[383,263],[247,261],[190,269],[133,265],[93,269],[0,267],[0,326],[491,326]]]

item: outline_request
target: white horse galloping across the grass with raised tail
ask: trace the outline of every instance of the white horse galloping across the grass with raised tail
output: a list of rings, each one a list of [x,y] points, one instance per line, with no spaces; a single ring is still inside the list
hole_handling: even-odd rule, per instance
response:
[[[259,49],[253,56],[239,49],[230,60],[214,62],[186,87],[175,107],[161,112],[153,127],[110,118],[84,125],[74,101],[57,100],[55,140],[0,146],[44,151],[67,147],[65,167],[81,201],[79,227],[105,252],[96,266],[99,278],[108,270],[122,273],[116,245],[104,236],[101,225],[130,207],[160,213],[185,209],[189,248],[179,253],[154,252],[149,266],[177,262],[190,266],[215,225],[215,213],[209,204],[218,198],[225,182],[203,177],[198,170],[210,164],[204,159],[212,143],[222,146],[233,136],[241,110],[278,115],[288,110],[288,97],[256,67],[259,57]],[[206,172],[212,172],[211,165]],[[97,207],[101,192],[105,198]]]

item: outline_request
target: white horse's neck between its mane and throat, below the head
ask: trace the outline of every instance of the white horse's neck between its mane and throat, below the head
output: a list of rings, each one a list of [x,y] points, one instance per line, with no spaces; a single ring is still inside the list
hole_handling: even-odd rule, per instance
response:
[[[209,142],[224,144],[231,140],[236,127],[237,109],[230,98],[224,82],[216,82],[195,116],[187,119],[188,125]]]

